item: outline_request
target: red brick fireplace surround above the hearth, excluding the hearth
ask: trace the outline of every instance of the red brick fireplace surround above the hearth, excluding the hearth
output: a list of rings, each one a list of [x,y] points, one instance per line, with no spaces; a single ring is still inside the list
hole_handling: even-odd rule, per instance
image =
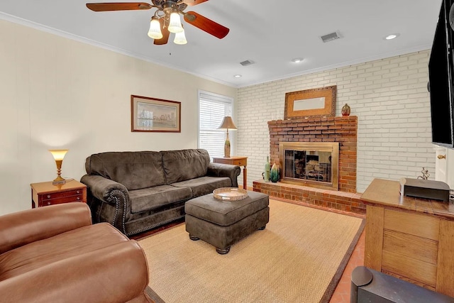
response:
[[[269,121],[270,158],[279,163],[281,142],[338,142],[339,190],[356,192],[356,116]]]

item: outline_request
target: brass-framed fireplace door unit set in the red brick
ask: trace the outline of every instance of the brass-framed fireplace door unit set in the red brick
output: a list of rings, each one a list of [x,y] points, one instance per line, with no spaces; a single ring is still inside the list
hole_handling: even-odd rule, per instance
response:
[[[281,182],[339,190],[339,143],[279,143]]]

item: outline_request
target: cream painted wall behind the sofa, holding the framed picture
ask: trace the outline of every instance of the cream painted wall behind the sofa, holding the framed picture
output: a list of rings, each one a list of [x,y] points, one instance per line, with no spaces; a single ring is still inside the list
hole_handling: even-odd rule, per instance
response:
[[[92,153],[197,147],[197,89],[237,89],[0,20],[0,214],[31,208],[30,183],[79,180]],[[131,94],[182,102],[181,133],[132,133]],[[234,106],[236,109],[236,106]]]

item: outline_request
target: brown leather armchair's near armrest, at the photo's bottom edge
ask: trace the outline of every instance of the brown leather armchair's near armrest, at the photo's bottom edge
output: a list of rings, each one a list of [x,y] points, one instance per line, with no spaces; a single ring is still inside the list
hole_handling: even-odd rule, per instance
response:
[[[143,297],[148,265],[135,241],[114,244],[0,281],[2,302],[128,302]]]

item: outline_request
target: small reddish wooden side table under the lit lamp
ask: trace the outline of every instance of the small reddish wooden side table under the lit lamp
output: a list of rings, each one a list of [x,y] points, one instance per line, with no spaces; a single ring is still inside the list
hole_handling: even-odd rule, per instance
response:
[[[69,202],[87,203],[87,185],[76,180],[53,185],[52,182],[32,183],[31,207],[62,204]]]

